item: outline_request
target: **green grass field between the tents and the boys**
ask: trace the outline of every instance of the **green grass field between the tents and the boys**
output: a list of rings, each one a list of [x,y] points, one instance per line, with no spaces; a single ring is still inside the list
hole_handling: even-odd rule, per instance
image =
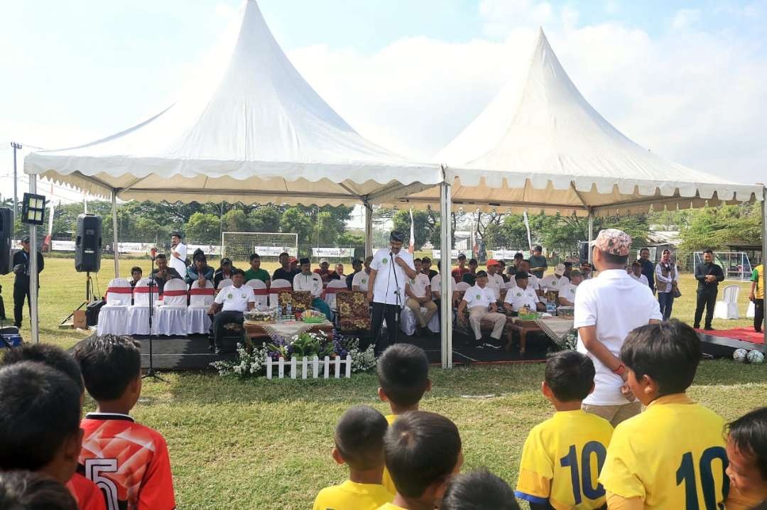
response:
[[[103,292],[111,261],[102,261]],[[121,265],[127,275],[135,261]],[[141,262],[144,271],[148,263]],[[239,267],[245,267],[240,264]],[[272,269],[272,267],[267,267]],[[12,314],[12,276],[0,277]],[[746,311],[748,285],[742,284],[740,310]],[[71,259],[50,259],[41,274],[41,340],[71,347],[87,333],[60,331],[58,323],[83,301],[85,276]],[[694,281],[683,275],[683,298],[674,317],[691,321]],[[745,291],[745,292],[744,292]],[[629,306],[629,304],[627,304]],[[714,321],[714,327],[749,320]],[[28,337],[28,320],[22,334]],[[433,391],[423,409],[449,416],[464,443],[464,469],[488,466],[515,483],[522,443],[529,429],[551,415],[539,392],[542,364],[484,366],[431,371]],[[690,390],[726,420],[765,404],[767,365],[729,360],[705,361]],[[377,402],[377,380],[360,374],[351,380],[232,380],[214,373],[163,373],[167,383],[147,382],[133,415],[166,437],[179,508],[311,508],[319,489],[344,480],[330,457],[338,416],[351,405]],[[87,400],[88,410],[93,402]]]

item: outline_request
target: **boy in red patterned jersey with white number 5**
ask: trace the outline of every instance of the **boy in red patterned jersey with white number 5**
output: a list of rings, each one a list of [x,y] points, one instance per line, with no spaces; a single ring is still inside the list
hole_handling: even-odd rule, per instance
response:
[[[81,423],[80,463],[108,508],[173,510],[168,447],[154,429],[129,416],[141,394],[141,353],[130,337],[91,337],[75,350],[95,413]]]

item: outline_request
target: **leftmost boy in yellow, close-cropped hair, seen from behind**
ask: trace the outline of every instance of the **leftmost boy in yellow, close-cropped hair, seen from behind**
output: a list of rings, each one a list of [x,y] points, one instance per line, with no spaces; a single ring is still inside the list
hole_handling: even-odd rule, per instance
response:
[[[349,466],[349,479],[322,489],[314,510],[375,510],[394,495],[384,488],[384,415],[368,406],[349,408],[335,429],[333,459]]]

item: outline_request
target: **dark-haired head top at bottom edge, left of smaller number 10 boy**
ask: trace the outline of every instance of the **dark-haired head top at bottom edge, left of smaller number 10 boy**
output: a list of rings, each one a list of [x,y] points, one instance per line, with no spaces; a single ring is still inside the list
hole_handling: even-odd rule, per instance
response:
[[[480,468],[450,479],[439,510],[519,510],[519,505],[508,483]]]

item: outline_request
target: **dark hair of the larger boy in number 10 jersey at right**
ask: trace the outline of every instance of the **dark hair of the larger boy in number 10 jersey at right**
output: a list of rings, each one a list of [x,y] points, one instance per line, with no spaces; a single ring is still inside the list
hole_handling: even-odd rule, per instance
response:
[[[637,379],[648,375],[660,396],[683,393],[693,383],[700,362],[700,338],[688,324],[672,319],[637,327],[621,347],[621,360]]]

